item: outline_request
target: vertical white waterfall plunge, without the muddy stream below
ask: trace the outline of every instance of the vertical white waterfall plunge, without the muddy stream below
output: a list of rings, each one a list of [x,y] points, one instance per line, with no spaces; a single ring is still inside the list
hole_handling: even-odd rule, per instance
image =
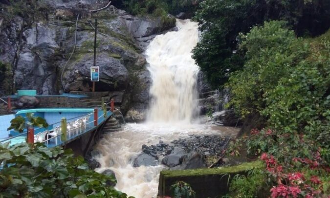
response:
[[[192,49],[198,42],[198,24],[176,20],[178,31],[158,35],[146,50],[152,85],[149,122],[190,122],[198,111],[198,66]]]

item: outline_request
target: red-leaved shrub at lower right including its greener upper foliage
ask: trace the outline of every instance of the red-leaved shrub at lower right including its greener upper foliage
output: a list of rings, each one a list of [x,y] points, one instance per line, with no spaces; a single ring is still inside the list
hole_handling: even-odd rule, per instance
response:
[[[241,142],[241,143],[239,143]],[[330,194],[330,168],[321,148],[306,135],[253,129],[248,137],[233,145],[245,144],[247,153],[260,156],[272,198],[327,197]],[[231,153],[234,148],[228,149]]]

